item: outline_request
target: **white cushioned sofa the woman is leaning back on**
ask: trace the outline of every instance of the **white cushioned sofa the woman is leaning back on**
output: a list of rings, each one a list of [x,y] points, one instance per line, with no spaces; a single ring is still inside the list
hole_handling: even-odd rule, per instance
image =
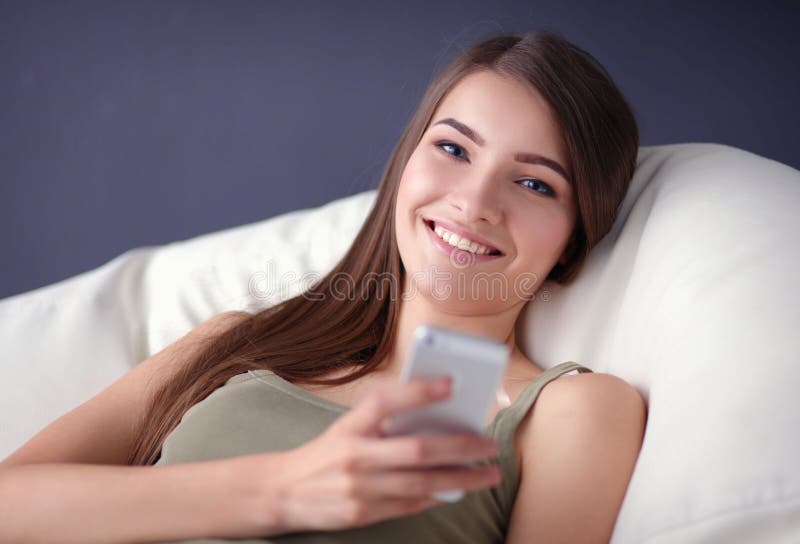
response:
[[[211,315],[299,292],[373,198],[133,249],[0,301],[0,458]],[[529,305],[519,334],[534,360],[616,374],[648,401],[613,542],[800,542],[799,208],[786,165],[643,147],[582,275]]]

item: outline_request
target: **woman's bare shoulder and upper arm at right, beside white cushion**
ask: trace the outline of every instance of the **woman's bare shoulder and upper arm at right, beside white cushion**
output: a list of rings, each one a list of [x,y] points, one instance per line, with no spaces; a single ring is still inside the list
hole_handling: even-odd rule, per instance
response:
[[[609,374],[555,380],[521,423],[510,544],[608,542],[641,448],[647,409]]]

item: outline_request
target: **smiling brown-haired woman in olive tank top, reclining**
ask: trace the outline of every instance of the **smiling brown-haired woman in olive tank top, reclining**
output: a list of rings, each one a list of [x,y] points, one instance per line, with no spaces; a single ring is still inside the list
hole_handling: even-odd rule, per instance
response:
[[[574,363],[543,371],[514,324],[543,278],[570,282],[608,232],[637,150],[624,97],[562,38],[464,51],[428,88],[334,270],[273,308],[212,318],[6,459],[0,483],[34,489],[6,531],[35,534],[26,520],[45,488],[33,484],[52,502],[72,482],[81,492],[38,536],[608,541],[644,403]],[[511,348],[510,405],[493,408],[488,436],[383,436],[392,415],[449,394],[441,380],[398,382],[423,323]],[[113,507],[98,491],[112,488]],[[468,493],[431,498],[454,488]],[[89,512],[92,531],[71,524]]]

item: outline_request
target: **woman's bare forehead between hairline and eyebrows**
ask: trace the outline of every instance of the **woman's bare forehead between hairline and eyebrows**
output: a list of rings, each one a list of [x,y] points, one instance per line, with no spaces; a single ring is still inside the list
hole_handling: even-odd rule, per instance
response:
[[[439,103],[430,126],[446,117],[474,129],[488,148],[569,162],[561,127],[550,105],[533,86],[508,76],[490,70],[465,76]]]

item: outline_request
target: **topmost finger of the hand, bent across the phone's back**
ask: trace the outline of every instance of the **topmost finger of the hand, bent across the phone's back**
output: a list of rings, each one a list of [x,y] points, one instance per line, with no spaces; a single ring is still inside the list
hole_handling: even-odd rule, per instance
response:
[[[376,436],[381,433],[384,418],[444,400],[449,395],[448,378],[410,380],[370,394],[335,425],[341,431]]]

